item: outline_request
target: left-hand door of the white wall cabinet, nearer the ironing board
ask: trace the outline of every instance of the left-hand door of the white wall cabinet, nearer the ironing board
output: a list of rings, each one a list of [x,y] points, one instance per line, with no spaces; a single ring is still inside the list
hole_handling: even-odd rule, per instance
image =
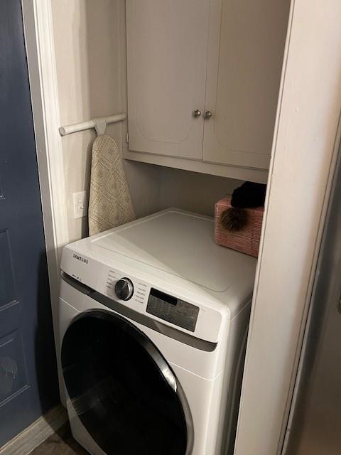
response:
[[[209,0],[127,0],[129,149],[202,159]]]

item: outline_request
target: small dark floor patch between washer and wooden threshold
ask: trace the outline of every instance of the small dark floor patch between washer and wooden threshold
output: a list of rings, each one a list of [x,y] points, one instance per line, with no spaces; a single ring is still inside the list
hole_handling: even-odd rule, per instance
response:
[[[43,444],[36,447],[30,455],[89,455],[71,436],[69,424],[52,434]]]

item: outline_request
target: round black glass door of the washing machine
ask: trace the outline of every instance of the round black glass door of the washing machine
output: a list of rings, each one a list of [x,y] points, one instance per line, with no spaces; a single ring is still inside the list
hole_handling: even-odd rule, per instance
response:
[[[160,351],[109,311],[77,316],[65,333],[62,365],[80,421],[107,455],[188,455],[193,422]]]

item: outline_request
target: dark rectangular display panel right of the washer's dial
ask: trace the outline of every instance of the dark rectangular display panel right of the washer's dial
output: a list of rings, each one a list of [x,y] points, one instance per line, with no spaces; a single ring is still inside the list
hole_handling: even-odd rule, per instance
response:
[[[153,316],[163,319],[163,321],[171,322],[175,326],[194,332],[199,307],[158,291],[158,289],[151,288],[147,313],[153,314]]]

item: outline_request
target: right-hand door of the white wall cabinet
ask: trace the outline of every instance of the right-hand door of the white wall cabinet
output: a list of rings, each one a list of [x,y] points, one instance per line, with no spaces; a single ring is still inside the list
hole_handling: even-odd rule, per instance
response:
[[[212,0],[203,159],[268,168],[288,0]]]

